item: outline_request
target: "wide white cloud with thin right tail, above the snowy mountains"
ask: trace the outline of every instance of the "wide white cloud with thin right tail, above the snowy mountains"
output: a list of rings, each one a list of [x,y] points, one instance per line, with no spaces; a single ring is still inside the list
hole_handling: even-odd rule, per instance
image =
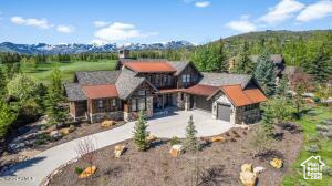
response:
[[[100,41],[123,41],[127,39],[135,39],[135,38],[146,38],[151,35],[156,35],[157,32],[148,32],[142,33],[139,30],[136,29],[134,24],[122,23],[122,22],[114,22],[106,28],[102,28],[97,30],[94,35],[96,40]]]

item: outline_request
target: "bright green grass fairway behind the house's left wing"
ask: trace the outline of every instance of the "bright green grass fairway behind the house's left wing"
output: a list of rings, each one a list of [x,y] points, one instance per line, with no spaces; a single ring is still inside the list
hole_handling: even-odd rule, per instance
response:
[[[114,60],[103,60],[97,62],[86,61],[74,61],[65,63],[44,63],[38,64],[34,72],[27,71],[27,74],[35,78],[39,82],[48,83],[51,76],[52,69],[58,65],[62,72],[63,81],[71,81],[74,78],[75,71],[102,71],[102,70],[114,70]],[[24,70],[23,70],[24,71]]]

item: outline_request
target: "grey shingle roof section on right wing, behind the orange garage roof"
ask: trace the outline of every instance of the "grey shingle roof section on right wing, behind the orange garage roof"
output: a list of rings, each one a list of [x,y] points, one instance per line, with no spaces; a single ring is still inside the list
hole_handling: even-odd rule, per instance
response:
[[[204,76],[198,84],[210,86],[225,86],[231,84],[241,84],[245,87],[251,80],[251,75],[228,74],[228,73],[201,73]]]

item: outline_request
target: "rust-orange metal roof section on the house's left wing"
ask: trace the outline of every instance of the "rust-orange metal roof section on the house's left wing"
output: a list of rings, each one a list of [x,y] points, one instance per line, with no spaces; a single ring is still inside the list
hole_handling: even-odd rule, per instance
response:
[[[118,96],[115,84],[85,85],[83,86],[83,92],[87,99],[106,99]]]

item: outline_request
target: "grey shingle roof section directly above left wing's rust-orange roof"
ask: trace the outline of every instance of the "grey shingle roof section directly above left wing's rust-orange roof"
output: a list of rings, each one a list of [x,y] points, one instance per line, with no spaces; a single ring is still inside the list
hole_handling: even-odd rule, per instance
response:
[[[114,84],[120,71],[77,71],[75,74],[82,85]]]

